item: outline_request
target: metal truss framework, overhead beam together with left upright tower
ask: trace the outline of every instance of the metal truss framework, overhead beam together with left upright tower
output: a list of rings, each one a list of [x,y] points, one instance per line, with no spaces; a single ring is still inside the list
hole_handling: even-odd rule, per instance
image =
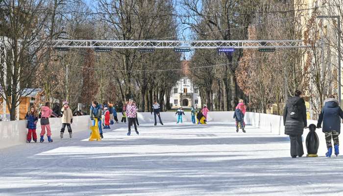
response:
[[[19,44],[21,40],[19,40]],[[291,49],[309,48],[302,40],[37,40],[30,47],[63,49]],[[6,84],[6,48],[0,40],[0,78]],[[3,87],[2,87],[3,88]],[[6,87],[5,87],[6,88]],[[0,93],[4,93],[1,91]],[[3,95],[4,96],[4,95]],[[6,120],[6,101],[0,101]],[[17,115],[19,118],[19,115]]]

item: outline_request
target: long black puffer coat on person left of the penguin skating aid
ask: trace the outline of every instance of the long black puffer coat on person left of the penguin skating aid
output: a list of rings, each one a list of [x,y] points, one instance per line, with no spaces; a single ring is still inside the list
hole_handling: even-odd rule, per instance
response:
[[[298,108],[297,118],[290,117],[290,109],[293,105]],[[307,126],[306,106],[303,98],[294,96],[289,98],[283,112],[283,124],[285,125],[286,135],[302,135],[304,127]]]

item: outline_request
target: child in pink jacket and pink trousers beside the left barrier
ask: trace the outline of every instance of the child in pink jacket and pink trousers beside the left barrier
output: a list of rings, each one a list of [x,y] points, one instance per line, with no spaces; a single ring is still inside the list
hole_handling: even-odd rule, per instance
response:
[[[58,118],[58,115],[50,109],[50,103],[49,102],[46,102],[45,106],[42,107],[41,113],[42,113],[41,114],[42,131],[41,131],[40,142],[41,143],[44,142],[45,129],[47,129],[48,142],[51,143],[51,142],[53,142],[53,140],[51,139],[51,128],[50,128],[49,118],[51,115]]]

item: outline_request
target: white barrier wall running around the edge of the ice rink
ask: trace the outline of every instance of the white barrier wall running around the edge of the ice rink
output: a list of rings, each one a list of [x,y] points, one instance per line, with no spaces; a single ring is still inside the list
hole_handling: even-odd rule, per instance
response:
[[[185,112],[186,116],[182,116],[183,122],[191,122],[191,112]],[[233,119],[234,112],[209,112],[207,115],[207,120],[209,123],[234,123]],[[177,121],[177,115],[175,112],[161,112],[162,122],[175,122]],[[118,113],[118,120],[122,120],[122,114]],[[52,132],[52,138],[56,139],[59,137],[59,132],[62,126],[61,119],[50,118],[50,127]],[[138,113],[139,123],[154,123],[154,114],[149,112],[139,112]],[[79,116],[73,117],[72,129],[73,132],[89,130],[90,127],[89,116]],[[157,117],[157,123],[158,117]],[[245,123],[252,125],[253,127],[260,128],[262,130],[270,131],[275,135],[284,135],[284,126],[282,116],[270,115],[270,114],[260,114],[260,113],[245,113]],[[314,123],[317,125],[316,121],[308,120],[308,125]],[[40,121],[37,123],[37,137],[39,139],[39,134],[41,132]],[[309,130],[304,130],[304,140],[308,134]],[[325,147],[324,134],[321,129],[316,131],[319,136],[320,148]],[[65,133],[68,134],[68,129],[66,127]],[[26,121],[12,121],[12,122],[0,122],[0,149],[20,144],[25,144],[26,142]],[[67,135],[66,135],[67,137]]]

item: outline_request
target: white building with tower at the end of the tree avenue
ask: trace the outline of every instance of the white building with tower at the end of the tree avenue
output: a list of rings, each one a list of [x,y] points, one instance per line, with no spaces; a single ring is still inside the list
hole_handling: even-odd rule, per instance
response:
[[[182,63],[184,75],[188,74],[188,62]],[[196,104],[201,106],[201,100],[198,88],[193,84],[189,77],[182,77],[177,84],[172,88],[170,97],[171,108],[176,109],[182,106],[183,108],[191,108]]]

